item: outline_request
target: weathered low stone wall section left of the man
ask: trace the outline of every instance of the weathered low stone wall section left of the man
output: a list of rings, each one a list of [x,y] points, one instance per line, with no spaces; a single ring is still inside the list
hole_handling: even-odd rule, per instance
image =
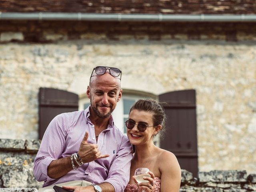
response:
[[[39,188],[33,163],[40,140],[0,139],[0,188]]]

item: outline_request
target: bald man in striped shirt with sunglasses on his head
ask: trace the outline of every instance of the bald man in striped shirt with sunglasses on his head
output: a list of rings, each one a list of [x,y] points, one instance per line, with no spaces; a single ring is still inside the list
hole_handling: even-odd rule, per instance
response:
[[[93,69],[86,95],[90,106],[50,122],[34,161],[34,176],[53,186],[86,186],[83,192],[122,192],[130,175],[132,146],[111,113],[122,96],[121,71]]]

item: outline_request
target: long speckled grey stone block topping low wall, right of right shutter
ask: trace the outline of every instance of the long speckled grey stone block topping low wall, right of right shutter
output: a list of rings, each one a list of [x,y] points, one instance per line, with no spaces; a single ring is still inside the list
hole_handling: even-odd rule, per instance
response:
[[[199,172],[200,182],[246,182],[245,170],[214,170]]]

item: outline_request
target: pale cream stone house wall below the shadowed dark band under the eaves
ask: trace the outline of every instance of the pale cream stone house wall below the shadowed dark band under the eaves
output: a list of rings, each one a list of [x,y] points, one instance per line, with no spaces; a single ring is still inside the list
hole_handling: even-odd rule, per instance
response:
[[[0,44],[0,52],[1,138],[38,138],[40,87],[81,96],[94,66],[115,66],[124,92],[196,90],[199,170],[256,172],[255,45],[79,41]]]

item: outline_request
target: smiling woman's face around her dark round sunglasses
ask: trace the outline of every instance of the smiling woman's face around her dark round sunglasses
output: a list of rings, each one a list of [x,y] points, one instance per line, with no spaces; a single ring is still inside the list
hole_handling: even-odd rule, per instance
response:
[[[135,125],[132,129],[127,128],[127,136],[133,145],[142,145],[146,144],[149,141],[152,141],[152,136],[154,135],[155,128],[153,125],[153,113],[140,111],[140,110],[132,110],[129,114],[128,120],[134,122],[135,124],[144,123],[147,127],[144,132],[138,130],[137,125]]]

